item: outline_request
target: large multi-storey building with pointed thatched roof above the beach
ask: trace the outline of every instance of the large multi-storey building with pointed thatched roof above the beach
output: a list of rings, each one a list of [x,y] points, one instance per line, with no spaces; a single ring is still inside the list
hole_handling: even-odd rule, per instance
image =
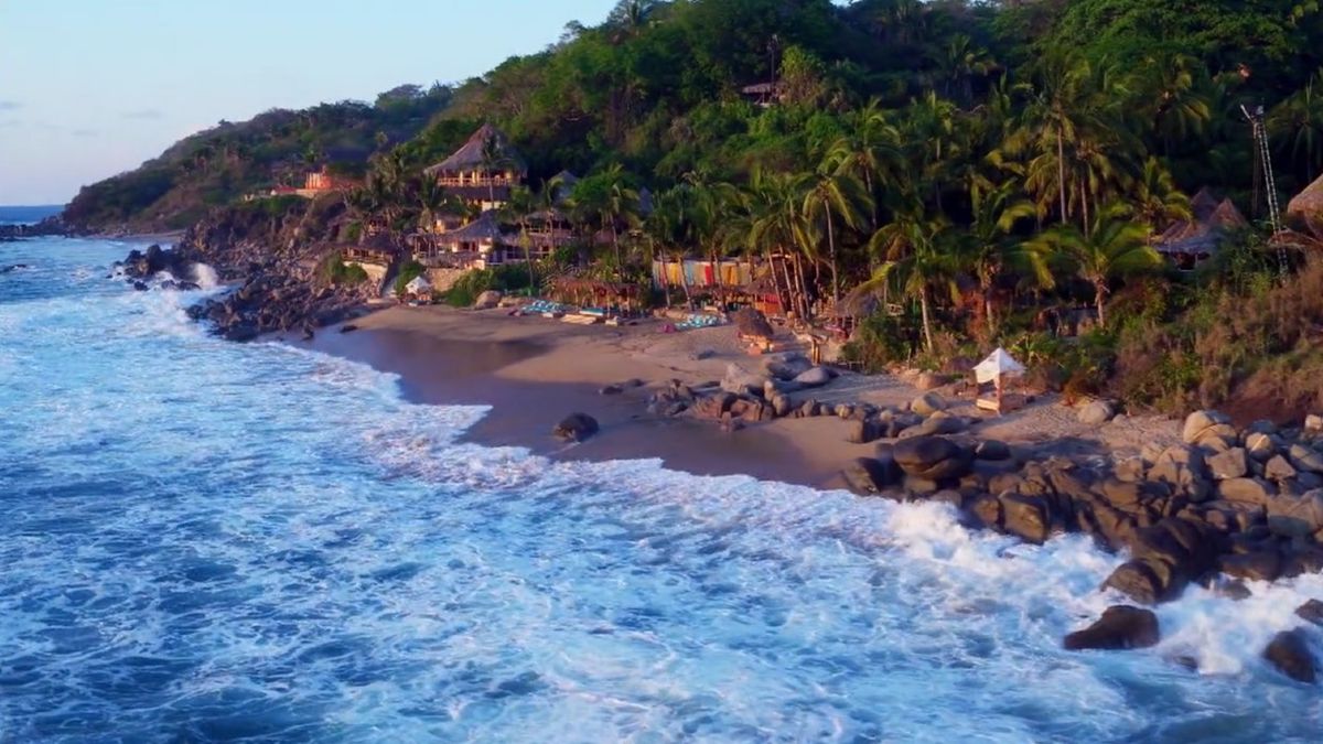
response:
[[[509,192],[528,177],[528,169],[505,135],[483,124],[441,163],[423,171],[429,177],[482,212],[500,209]]]

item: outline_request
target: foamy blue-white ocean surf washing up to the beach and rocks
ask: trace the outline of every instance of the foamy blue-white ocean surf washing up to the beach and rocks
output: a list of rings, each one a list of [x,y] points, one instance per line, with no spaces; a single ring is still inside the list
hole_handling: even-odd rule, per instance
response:
[[[1318,737],[1258,654],[1319,576],[1068,653],[1118,601],[1085,537],[460,443],[483,408],[217,340],[130,248],[0,244],[0,741]]]

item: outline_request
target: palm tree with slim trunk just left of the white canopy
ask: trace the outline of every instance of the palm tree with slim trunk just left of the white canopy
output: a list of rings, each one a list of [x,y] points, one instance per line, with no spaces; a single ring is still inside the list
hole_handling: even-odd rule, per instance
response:
[[[896,282],[904,294],[917,298],[923,322],[923,344],[933,351],[931,289],[957,293],[958,234],[945,217],[929,217],[918,204],[896,214],[869,240],[869,249],[882,261],[861,291],[877,291]]]

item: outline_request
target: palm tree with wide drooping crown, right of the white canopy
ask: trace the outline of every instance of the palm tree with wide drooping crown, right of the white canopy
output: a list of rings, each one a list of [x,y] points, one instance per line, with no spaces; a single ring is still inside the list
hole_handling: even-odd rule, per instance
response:
[[[1039,249],[1054,253],[1076,275],[1093,285],[1101,328],[1107,326],[1105,306],[1111,293],[1110,282],[1162,266],[1162,257],[1148,245],[1147,229],[1127,220],[1126,212],[1125,207],[1113,204],[1094,216],[1088,232],[1062,225],[1035,240]]]

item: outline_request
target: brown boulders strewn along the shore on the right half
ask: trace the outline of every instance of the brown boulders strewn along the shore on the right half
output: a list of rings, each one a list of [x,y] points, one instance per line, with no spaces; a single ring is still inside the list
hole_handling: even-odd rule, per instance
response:
[[[1082,532],[1107,551],[1123,551],[1129,560],[1099,589],[1134,604],[1113,606],[1068,635],[1068,649],[1156,643],[1160,629],[1147,606],[1180,597],[1192,582],[1244,598],[1246,581],[1323,571],[1320,417],[1297,428],[1259,421],[1237,429],[1221,413],[1200,410],[1185,420],[1179,445],[1148,446],[1130,458],[1072,458],[1056,454],[1052,442],[1012,446],[972,436],[975,421],[949,413],[933,392],[904,409],[791,402],[790,393],[830,385],[833,376],[799,355],[773,355],[755,367],[730,364],[720,381],[672,381],[654,391],[648,405],[660,416],[693,416],[728,430],[836,416],[848,421],[849,442],[876,442],[872,457],[841,470],[859,495],[949,503],[968,526],[1027,543]],[[1084,406],[1081,420],[1102,422],[1114,413],[1110,404]],[[1299,616],[1323,625],[1323,604],[1311,601]],[[1312,682],[1316,674],[1301,629],[1279,634],[1263,657],[1293,679]]]

